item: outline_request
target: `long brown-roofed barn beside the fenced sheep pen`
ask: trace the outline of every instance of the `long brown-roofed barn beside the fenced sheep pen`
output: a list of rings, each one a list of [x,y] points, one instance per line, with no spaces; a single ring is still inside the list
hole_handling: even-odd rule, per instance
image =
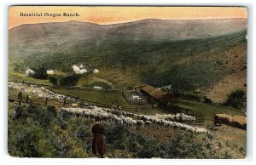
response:
[[[134,88],[137,92],[146,95],[148,98],[152,98],[154,100],[160,100],[167,93],[160,88],[154,88],[148,84],[143,84]]]

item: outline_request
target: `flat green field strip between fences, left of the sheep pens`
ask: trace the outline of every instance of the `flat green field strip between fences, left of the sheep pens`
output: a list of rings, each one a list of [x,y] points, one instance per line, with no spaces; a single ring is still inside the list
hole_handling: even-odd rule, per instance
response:
[[[104,104],[111,105],[129,105],[121,94],[107,93],[107,92],[96,92],[96,91],[86,91],[79,89],[57,89],[52,88],[55,92],[60,92],[62,94],[70,94],[74,97],[78,97],[83,100],[89,100],[94,102],[100,102]]]

